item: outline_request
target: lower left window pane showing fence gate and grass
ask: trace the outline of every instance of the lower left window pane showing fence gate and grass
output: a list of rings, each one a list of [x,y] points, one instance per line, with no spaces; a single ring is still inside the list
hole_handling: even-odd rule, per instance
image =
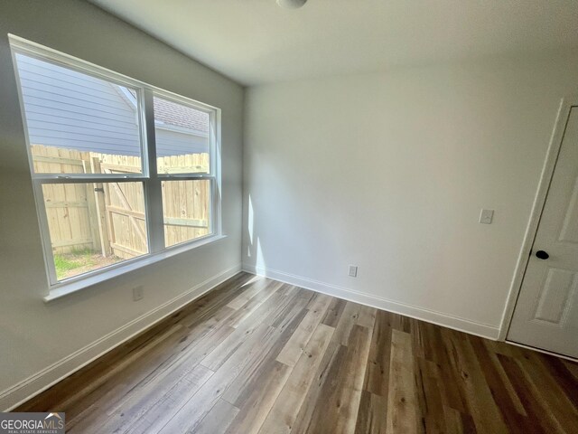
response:
[[[142,183],[43,184],[59,281],[148,252]]]

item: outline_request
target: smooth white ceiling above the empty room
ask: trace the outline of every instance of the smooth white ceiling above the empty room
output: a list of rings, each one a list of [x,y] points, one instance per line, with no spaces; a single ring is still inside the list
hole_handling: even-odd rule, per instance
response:
[[[578,47],[576,0],[90,0],[245,85]]]

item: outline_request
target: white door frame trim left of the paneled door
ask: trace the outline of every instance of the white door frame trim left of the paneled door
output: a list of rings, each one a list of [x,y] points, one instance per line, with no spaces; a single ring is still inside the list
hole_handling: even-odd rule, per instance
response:
[[[514,316],[514,309],[516,308],[517,297],[519,296],[519,293],[522,290],[522,284],[524,283],[524,275],[526,274],[527,264],[530,260],[530,252],[532,251],[532,246],[536,239],[536,232],[538,230],[540,218],[542,217],[542,212],[544,211],[545,200],[547,198],[548,191],[550,189],[552,177],[554,176],[555,166],[558,161],[558,155],[560,154],[560,148],[562,147],[564,132],[566,130],[566,125],[568,123],[568,118],[570,117],[570,111],[572,110],[573,107],[578,107],[578,94],[566,96],[560,101],[560,106],[555,120],[555,127],[552,132],[552,136],[550,137],[550,144],[548,145],[548,150],[545,156],[545,162],[544,165],[542,166],[542,174],[540,175],[540,182],[538,184],[536,196],[534,197],[534,203],[532,204],[530,219],[527,223],[524,241],[522,242],[522,248],[517,257],[517,265],[516,269],[514,270],[514,277],[512,278],[512,283],[510,284],[508,298],[506,300],[506,307],[504,308],[501,324],[499,325],[499,335],[498,335],[499,341],[508,340],[507,339],[508,330],[512,322],[512,317]],[[527,346],[523,344],[519,345]],[[534,347],[531,348],[539,350],[538,348]],[[545,350],[539,351],[548,354],[553,354]]]

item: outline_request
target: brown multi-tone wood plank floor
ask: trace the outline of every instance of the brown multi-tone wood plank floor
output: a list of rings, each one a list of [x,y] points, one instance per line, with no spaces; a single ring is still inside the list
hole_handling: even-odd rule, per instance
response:
[[[241,273],[17,410],[72,433],[577,433],[578,365]]]

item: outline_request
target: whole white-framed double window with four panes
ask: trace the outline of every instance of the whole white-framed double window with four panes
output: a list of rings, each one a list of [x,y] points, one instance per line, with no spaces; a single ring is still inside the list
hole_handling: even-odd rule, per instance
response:
[[[10,41],[51,288],[219,236],[219,109]]]

